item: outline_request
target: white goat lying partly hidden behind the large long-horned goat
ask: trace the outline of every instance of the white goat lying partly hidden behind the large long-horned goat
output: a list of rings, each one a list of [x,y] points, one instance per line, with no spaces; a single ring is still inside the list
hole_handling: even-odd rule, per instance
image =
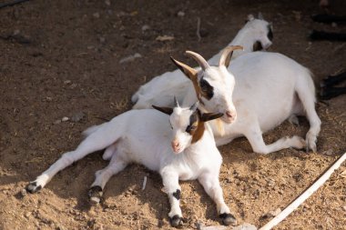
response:
[[[256,51],[257,49],[266,49],[271,45],[273,38],[272,26],[263,20],[261,15],[259,17],[260,19],[255,19],[253,15],[249,15],[246,25],[239,30],[236,37],[229,43],[229,45],[243,46],[243,50],[235,51],[232,58]],[[209,64],[218,65],[221,53],[222,50],[217,55],[211,57]],[[196,67],[196,69],[199,68]],[[158,105],[167,105],[171,101],[172,95],[177,95],[178,101],[181,101],[188,90],[186,82],[185,76],[178,69],[158,75],[147,84],[140,86],[138,91],[132,96],[131,100],[135,103],[133,108],[151,108],[152,104],[150,101],[155,101],[158,97],[160,97]],[[162,88],[162,85],[165,85],[165,87]],[[173,90],[169,92],[171,88]]]

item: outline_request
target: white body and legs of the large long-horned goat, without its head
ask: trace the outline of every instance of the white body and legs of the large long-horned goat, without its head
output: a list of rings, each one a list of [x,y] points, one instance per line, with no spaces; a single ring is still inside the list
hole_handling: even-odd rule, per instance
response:
[[[233,103],[238,118],[232,124],[224,124],[224,134],[218,134],[217,125],[212,125],[217,145],[245,135],[256,153],[268,154],[306,145],[316,151],[321,120],[315,110],[315,87],[307,68],[285,55],[255,52],[233,61],[229,70],[235,76]],[[280,125],[291,115],[307,116],[310,130],[306,143],[293,136],[265,145],[262,133]]]

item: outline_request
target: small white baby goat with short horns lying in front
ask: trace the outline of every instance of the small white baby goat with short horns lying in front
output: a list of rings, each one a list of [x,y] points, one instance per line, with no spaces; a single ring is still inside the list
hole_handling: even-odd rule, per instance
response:
[[[224,225],[235,224],[236,219],[225,204],[219,185],[219,169],[222,157],[215,145],[214,136],[207,124],[222,114],[202,114],[198,103],[191,107],[131,110],[118,115],[110,122],[86,130],[86,139],[75,151],[68,152],[51,165],[27,190],[35,193],[48,183],[57,172],[82,157],[108,146],[104,159],[109,165],[97,171],[89,196],[98,202],[104,187],[112,175],[128,164],[137,163],[157,171],[171,205],[168,214],[171,225],[181,224],[179,207],[180,186],[178,180],[198,179],[207,194],[215,201]]]

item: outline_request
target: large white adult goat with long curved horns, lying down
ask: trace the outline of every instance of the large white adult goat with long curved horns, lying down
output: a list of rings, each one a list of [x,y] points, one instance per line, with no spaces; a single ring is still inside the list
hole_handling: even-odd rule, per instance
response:
[[[245,135],[253,151],[260,154],[289,147],[307,147],[316,152],[321,120],[315,111],[315,87],[310,71],[285,55],[268,52],[241,55],[229,66],[229,54],[235,48],[239,47],[224,50],[219,66],[209,65],[202,56],[188,51],[187,54],[201,66],[199,70],[172,59],[192,84],[187,82],[183,93],[178,88],[165,91],[169,85],[161,85],[161,95],[150,103],[168,105],[162,99],[171,96],[169,94],[177,95],[176,91],[183,95],[182,105],[198,99],[205,110],[224,113],[223,122],[211,123],[217,145]],[[196,94],[191,93],[193,88]],[[288,118],[298,121],[296,115],[306,115],[310,122],[306,141],[292,136],[265,145],[262,133]]]

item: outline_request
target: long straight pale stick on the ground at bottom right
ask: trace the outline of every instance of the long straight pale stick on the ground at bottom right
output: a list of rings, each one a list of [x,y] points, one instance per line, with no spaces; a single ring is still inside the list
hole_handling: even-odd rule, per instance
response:
[[[310,197],[321,185],[323,185],[334,172],[338,169],[342,162],[346,159],[346,153],[341,155],[341,157],[331,165],[323,175],[320,176],[318,180],[315,181],[304,193],[302,193],[297,199],[295,199],[290,205],[288,205],[279,215],[275,216],[266,225],[262,226],[260,230],[270,230],[275,225],[278,225],[283,219],[285,219],[291,212],[293,212],[301,203]]]

